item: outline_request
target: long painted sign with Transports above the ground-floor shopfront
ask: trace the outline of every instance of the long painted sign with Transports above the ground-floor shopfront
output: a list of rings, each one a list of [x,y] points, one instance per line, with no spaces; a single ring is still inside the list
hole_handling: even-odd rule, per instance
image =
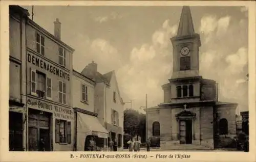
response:
[[[73,110],[68,109],[66,107],[62,107],[59,105],[55,105],[55,104],[34,99],[34,98],[28,98],[27,105],[29,108],[32,108],[32,109],[53,113],[53,116],[56,118],[66,119],[66,120],[74,119]]]

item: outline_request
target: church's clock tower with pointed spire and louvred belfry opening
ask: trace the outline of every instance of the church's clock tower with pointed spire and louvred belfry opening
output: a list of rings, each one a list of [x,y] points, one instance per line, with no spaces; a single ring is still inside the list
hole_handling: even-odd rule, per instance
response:
[[[177,36],[170,39],[173,44],[172,79],[199,76],[200,35],[195,33],[191,12],[183,6]]]

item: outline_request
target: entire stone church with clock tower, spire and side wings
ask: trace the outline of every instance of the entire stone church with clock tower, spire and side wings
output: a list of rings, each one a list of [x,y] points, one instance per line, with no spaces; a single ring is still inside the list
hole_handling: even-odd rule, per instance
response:
[[[200,35],[188,6],[170,40],[173,74],[162,85],[164,102],[147,109],[148,138],[159,137],[161,150],[215,149],[222,139],[236,135],[237,103],[218,101],[216,81],[200,76]]]

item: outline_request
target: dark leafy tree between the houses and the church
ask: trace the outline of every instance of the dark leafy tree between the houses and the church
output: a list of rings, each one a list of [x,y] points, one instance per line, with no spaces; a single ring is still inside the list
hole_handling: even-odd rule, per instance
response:
[[[131,136],[140,136],[144,141],[145,134],[145,115],[133,109],[124,111],[124,132],[131,134]]]

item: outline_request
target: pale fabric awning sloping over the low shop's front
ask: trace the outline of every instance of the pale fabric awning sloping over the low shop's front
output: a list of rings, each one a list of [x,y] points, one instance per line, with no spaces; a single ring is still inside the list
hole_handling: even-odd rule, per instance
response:
[[[100,124],[97,117],[77,112],[77,131],[98,136],[99,138],[108,138],[109,132]]]

